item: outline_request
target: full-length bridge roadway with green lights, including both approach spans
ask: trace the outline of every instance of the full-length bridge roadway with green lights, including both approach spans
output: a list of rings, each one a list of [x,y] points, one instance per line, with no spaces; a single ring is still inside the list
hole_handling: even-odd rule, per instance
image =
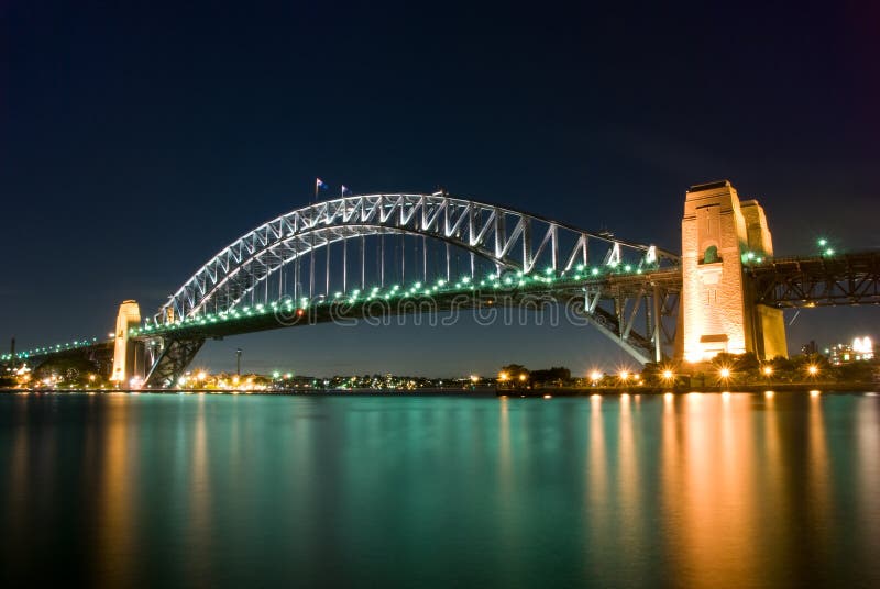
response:
[[[857,252],[831,256],[785,257],[766,259],[760,264],[748,264],[744,271],[752,281],[756,302],[780,309],[813,308],[829,305],[880,304],[880,252]],[[518,277],[516,277],[518,278]],[[433,290],[430,298],[420,291],[413,296],[389,299],[365,297],[351,301],[330,300],[317,302],[296,314],[292,301],[275,308],[242,308],[217,316],[190,318],[173,324],[135,327],[130,335],[144,342],[157,338],[176,341],[204,341],[228,335],[274,330],[286,326],[302,326],[331,321],[363,320],[374,316],[376,311],[384,314],[443,312],[453,309],[474,310],[492,307],[534,305],[538,308],[549,301],[572,304],[575,312],[588,315],[593,324],[606,334],[626,340],[641,352],[653,347],[652,337],[640,335],[631,327],[632,310],[627,310],[627,301],[637,301],[649,288],[658,286],[664,293],[681,290],[682,279],[679,267],[663,268],[647,273],[606,275],[601,278],[547,277],[540,281],[503,285],[498,288],[471,285],[449,285]],[[650,294],[648,292],[648,294]],[[596,297],[598,296],[598,297]],[[613,304],[602,307],[601,302]],[[287,304],[287,303],[290,304]],[[595,303],[591,309],[591,302]],[[378,307],[380,303],[382,307]],[[426,304],[428,303],[428,304]],[[623,304],[622,304],[623,303]],[[245,309],[248,309],[245,311]],[[668,309],[671,312],[673,309]],[[31,366],[56,358],[87,357],[101,365],[112,358],[112,340],[82,340],[65,344],[38,347],[15,354],[0,356],[0,363]],[[200,346],[199,346],[200,347]]]

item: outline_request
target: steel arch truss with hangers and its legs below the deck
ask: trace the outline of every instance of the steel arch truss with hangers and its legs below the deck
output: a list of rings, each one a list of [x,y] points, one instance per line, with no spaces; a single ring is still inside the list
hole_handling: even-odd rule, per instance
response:
[[[311,298],[316,292],[316,251],[323,252],[324,296],[329,297],[331,247],[342,248],[341,256],[333,262],[340,264],[341,257],[342,290],[346,291],[346,284],[358,285],[358,278],[361,288],[365,288],[367,266],[376,268],[378,281],[384,284],[386,235],[421,237],[420,255],[418,251],[415,255],[424,260],[426,279],[426,241],[447,244],[447,280],[451,278],[450,247],[470,255],[471,278],[475,277],[475,258],[486,260],[497,276],[507,271],[528,275],[540,269],[549,276],[563,277],[566,273],[574,275],[575,267],[578,271],[585,267],[596,271],[605,268],[608,271],[602,270],[593,278],[583,276],[581,286],[575,288],[580,298],[586,292],[584,316],[640,362],[659,358],[662,345],[670,340],[663,318],[673,311],[671,301],[676,299],[671,297],[672,290],[654,288],[648,276],[675,267],[679,263],[676,255],[652,245],[625,242],[607,233],[581,231],[514,209],[452,198],[444,192],[352,196],[310,204],[273,219],[224,247],[199,268],[160,309],[152,325],[162,330],[167,323],[226,313],[239,304],[254,307],[262,302],[267,307],[273,297],[274,301],[289,298],[285,288],[287,269],[292,267],[295,268],[293,298],[298,301],[297,294],[305,291],[299,279],[300,264],[308,266],[307,279],[304,280],[308,282]],[[365,253],[364,240],[367,236],[380,242],[373,259]],[[403,245],[399,255],[405,267]],[[352,263],[354,268],[350,271]],[[616,268],[631,271],[631,278],[615,281],[614,276],[607,275],[614,274]],[[645,274],[637,275],[637,270]],[[349,274],[353,274],[354,279],[349,279]],[[678,276],[680,282],[680,273]],[[278,285],[272,289],[274,294],[270,291],[271,281]],[[597,298],[588,290],[591,287],[587,285],[592,284],[600,285]],[[298,292],[297,287],[300,289]],[[558,294],[560,292],[552,293],[553,297]],[[636,329],[637,316],[646,319],[644,335]],[[254,324],[251,329],[277,326],[280,325]],[[163,338],[146,385],[173,385],[205,338],[215,336],[222,334],[187,331],[186,334],[179,332]]]

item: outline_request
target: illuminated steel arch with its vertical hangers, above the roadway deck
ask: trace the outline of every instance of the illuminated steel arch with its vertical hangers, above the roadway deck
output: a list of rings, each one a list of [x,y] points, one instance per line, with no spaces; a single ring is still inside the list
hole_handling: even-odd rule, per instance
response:
[[[400,236],[399,249],[386,248],[387,236]],[[446,275],[447,280],[454,278],[457,253],[465,258],[458,275],[471,278],[477,277],[481,264],[496,273],[540,269],[559,276],[573,267],[678,263],[678,256],[654,246],[443,192],[352,196],[296,209],[246,233],[199,268],[153,323],[283,298],[330,297],[366,288],[367,275],[371,285],[427,280],[429,242],[439,244],[441,258],[432,274]]]

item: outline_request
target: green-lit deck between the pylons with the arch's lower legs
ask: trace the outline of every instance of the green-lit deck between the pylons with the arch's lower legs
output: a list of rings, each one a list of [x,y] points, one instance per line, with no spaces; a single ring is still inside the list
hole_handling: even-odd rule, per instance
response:
[[[208,338],[367,318],[382,320],[400,314],[437,313],[442,321],[458,311],[512,307],[538,311],[548,304],[557,304],[562,308],[558,309],[560,318],[580,316],[616,340],[641,362],[649,362],[662,355],[663,343],[672,341],[660,315],[671,314],[667,301],[678,301],[680,286],[681,270],[678,268],[630,269],[627,274],[607,274],[596,278],[590,274],[583,276],[583,271],[566,277],[564,274],[524,275],[512,270],[494,275],[491,284],[484,280],[473,285],[465,278],[449,285],[441,279],[430,287],[420,282],[408,290],[392,286],[382,291],[374,287],[370,292],[361,293],[363,296],[345,298],[340,293],[331,300],[317,300],[309,304],[307,301],[296,304],[286,300],[270,305],[242,307],[175,323],[133,329],[130,337],[142,341],[154,353],[146,386],[166,387],[183,374]],[[634,329],[637,316],[646,319],[644,334]],[[652,316],[657,321],[652,321]],[[664,341],[660,340],[662,334]],[[162,348],[157,349],[155,344],[160,341]]]

